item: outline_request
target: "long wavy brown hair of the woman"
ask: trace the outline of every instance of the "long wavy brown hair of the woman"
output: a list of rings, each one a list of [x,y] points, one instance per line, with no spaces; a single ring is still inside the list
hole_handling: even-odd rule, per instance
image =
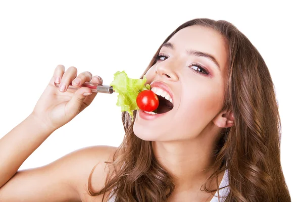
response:
[[[228,75],[222,110],[231,110],[234,125],[222,129],[215,154],[215,172],[200,190],[213,193],[207,184],[226,168],[229,171],[230,201],[290,201],[289,191],[280,162],[281,123],[275,87],[270,72],[256,47],[233,24],[224,20],[193,19],[179,26],[163,43],[179,30],[193,25],[212,28],[226,41]],[[162,43],[162,44],[163,44]],[[149,63],[156,63],[161,46]],[[134,119],[136,111],[134,111]],[[115,201],[166,201],[175,186],[172,176],[157,161],[151,141],[138,138],[127,112],[122,113],[125,137],[115,151],[105,186],[95,192],[97,196],[110,192]],[[123,165],[123,167],[121,166]],[[227,165],[227,167],[225,167]],[[119,168],[119,169],[117,169]],[[105,197],[103,196],[102,201]],[[219,196],[220,199],[220,196]],[[221,200],[222,201],[222,200]]]

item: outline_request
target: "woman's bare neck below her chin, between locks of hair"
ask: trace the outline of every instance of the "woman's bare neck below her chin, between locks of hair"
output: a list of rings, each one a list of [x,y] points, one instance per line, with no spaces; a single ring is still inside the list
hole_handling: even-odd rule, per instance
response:
[[[184,191],[199,190],[214,172],[212,154],[216,141],[212,134],[201,133],[190,140],[153,141],[152,145],[156,159],[173,176],[176,189]]]

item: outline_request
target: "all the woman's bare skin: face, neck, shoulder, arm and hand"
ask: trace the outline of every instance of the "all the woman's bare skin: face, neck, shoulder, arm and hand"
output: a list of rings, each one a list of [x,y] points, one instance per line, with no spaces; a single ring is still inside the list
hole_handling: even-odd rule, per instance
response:
[[[154,153],[174,177],[175,191],[168,201],[209,201],[211,195],[199,190],[201,183],[213,172],[210,154],[222,128],[233,125],[231,112],[221,111],[227,73],[227,54],[223,38],[217,32],[198,26],[176,33],[169,42],[174,49],[163,47],[161,58],[146,73],[147,83],[159,80],[174,94],[172,111],[153,121],[139,116],[134,123],[135,134],[153,141]],[[213,55],[221,68],[206,58],[187,56],[186,49]],[[162,60],[163,59],[163,60]],[[211,76],[190,70],[192,62],[206,66]],[[56,81],[56,78],[59,80]],[[77,84],[75,80],[79,80]],[[93,190],[105,184],[116,147],[82,148],[45,166],[18,169],[41,143],[55,130],[67,124],[90,105],[96,93],[87,87],[59,90],[54,82],[81,86],[84,82],[102,83],[90,72],[77,75],[77,69],[56,67],[54,75],[40,96],[33,112],[0,139],[0,198],[4,201],[98,201],[103,194],[87,194],[87,180],[92,168]],[[69,113],[66,113],[69,112]],[[139,111],[140,113],[140,111]],[[8,155],[9,154],[9,155]],[[223,173],[219,176],[221,182]],[[215,188],[212,184],[211,188]],[[105,194],[105,197],[108,193]]]

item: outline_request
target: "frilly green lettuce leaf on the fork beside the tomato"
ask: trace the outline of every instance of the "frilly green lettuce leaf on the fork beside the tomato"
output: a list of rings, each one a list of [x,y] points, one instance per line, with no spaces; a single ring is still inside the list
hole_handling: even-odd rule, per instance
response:
[[[117,106],[121,107],[121,112],[128,112],[134,118],[133,111],[138,110],[136,98],[139,92],[150,90],[150,85],[145,84],[147,81],[145,75],[143,79],[128,78],[125,71],[118,71],[114,74],[114,81],[110,84],[115,92],[118,92]]]

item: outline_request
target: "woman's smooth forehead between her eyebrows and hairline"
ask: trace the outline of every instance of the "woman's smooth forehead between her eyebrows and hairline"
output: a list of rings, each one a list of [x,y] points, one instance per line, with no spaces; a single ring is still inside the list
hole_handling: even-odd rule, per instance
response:
[[[168,42],[171,42],[178,52],[193,49],[208,53],[216,58],[220,67],[227,64],[227,48],[223,36],[217,31],[199,26],[189,26],[181,29]]]

